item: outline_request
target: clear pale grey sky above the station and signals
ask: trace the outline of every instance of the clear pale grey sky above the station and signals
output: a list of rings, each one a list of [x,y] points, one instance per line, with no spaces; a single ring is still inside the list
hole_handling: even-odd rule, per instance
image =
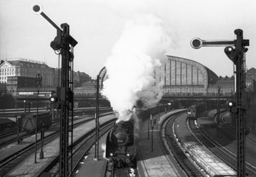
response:
[[[163,56],[156,56],[161,62],[165,62],[168,54],[200,62],[217,75],[231,76],[233,64],[224,54],[224,47],[193,49],[190,41],[194,37],[235,40],[234,30],[241,29],[244,39],[249,39],[246,66],[256,68],[256,1],[253,0],[1,0],[1,60],[26,58],[58,67],[58,55],[50,47],[56,30],[41,15],[33,14],[35,4],[41,4],[57,24],[70,25],[70,35],[78,42],[74,47],[74,70],[88,73],[92,78],[111,58],[127,26],[144,23],[142,16],[157,19],[167,34],[168,48]],[[136,39],[134,42],[137,43]]]

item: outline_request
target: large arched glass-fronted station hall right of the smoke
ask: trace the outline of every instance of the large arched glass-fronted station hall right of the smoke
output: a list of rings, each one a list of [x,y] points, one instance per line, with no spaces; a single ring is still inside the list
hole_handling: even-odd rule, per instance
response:
[[[255,87],[256,69],[249,69],[246,77],[247,88]],[[234,94],[234,76],[218,77],[211,69],[202,64],[167,56],[167,62],[155,73],[156,85],[163,85],[164,96],[223,96]]]

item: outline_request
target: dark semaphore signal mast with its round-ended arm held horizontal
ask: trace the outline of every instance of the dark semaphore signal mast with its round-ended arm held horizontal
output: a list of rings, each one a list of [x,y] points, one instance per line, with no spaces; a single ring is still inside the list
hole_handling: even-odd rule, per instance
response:
[[[205,41],[199,38],[191,40],[190,45],[194,49],[200,47],[221,47],[226,46],[224,52],[236,66],[236,94],[235,103],[230,104],[230,113],[235,117],[237,125],[237,176],[245,177],[245,111],[247,106],[247,93],[245,92],[245,58],[247,52],[245,46],[249,46],[249,40],[243,39],[243,30],[234,30],[236,40],[230,41]],[[234,46],[235,48],[233,48]]]

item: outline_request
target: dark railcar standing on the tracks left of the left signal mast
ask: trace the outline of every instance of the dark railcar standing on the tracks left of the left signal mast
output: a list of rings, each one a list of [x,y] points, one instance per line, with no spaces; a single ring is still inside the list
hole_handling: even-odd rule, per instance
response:
[[[52,115],[49,112],[30,113],[22,117],[22,130],[35,132],[35,119],[37,117],[37,130],[49,128],[52,125]]]

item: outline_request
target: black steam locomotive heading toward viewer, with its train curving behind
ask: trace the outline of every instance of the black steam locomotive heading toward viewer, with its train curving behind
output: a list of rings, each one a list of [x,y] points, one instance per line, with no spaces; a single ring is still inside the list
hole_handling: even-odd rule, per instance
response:
[[[137,134],[139,125],[138,117],[141,121],[149,119],[150,112],[156,114],[166,109],[167,105],[156,106],[154,108],[137,108],[136,115],[132,116],[129,121],[117,121],[114,127],[108,133],[106,138],[106,158],[112,161],[117,167],[128,165],[132,167],[136,163],[137,153]]]

